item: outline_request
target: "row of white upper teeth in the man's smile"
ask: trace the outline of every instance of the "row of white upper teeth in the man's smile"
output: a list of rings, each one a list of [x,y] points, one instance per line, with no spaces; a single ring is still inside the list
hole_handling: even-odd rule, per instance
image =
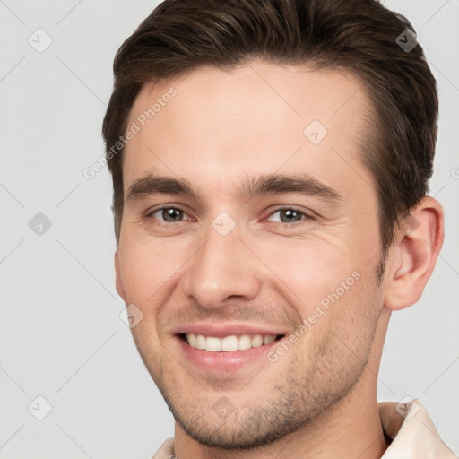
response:
[[[257,348],[263,344],[269,344],[276,339],[275,334],[242,334],[231,335],[224,338],[204,336],[204,334],[186,333],[186,341],[192,348],[204,349],[204,351],[245,351]]]

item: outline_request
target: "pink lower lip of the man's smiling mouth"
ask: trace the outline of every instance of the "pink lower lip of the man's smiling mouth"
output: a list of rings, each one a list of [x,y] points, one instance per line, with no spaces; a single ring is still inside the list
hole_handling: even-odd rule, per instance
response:
[[[266,354],[277,346],[281,340],[275,340],[269,344],[250,348],[246,351],[203,351],[202,349],[192,348],[185,340],[177,337],[178,345],[181,351],[185,354],[188,361],[192,362],[195,367],[204,370],[205,372],[233,372],[238,369],[247,367],[253,364],[256,360],[264,359],[264,363],[269,360]]]

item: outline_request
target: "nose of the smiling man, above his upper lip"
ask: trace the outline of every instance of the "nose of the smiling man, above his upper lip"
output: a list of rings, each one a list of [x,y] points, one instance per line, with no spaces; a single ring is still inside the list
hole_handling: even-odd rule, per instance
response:
[[[202,307],[225,307],[234,300],[254,299],[261,289],[260,265],[239,239],[238,226],[221,236],[212,226],[206,230],[203,246],[195,253],[182,275],[188,299]],[[204,242],[203,242],[204,240]]]

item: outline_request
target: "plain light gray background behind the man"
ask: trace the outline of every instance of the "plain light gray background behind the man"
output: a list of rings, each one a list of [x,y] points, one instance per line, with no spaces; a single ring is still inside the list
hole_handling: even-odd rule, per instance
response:
[[[156,4],[0,1],[0,458],[147,458],[173,433],[119,317],[108,170],[82,176],[104,152],[113,57]],[[457,454],[459,2],[385,4],[414,24],[439,84],[431,195],[446,242],[420,302],[393,314],[379,399],[419,397]],[[53,40],[41,53],[39,28]]]

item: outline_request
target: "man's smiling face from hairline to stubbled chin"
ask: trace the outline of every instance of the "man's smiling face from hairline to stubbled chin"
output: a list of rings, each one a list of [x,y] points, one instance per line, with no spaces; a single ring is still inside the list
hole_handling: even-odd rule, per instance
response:
[[[143,313],[132,331],[152,378],[203,444],[269,443],[365,376],[384,292],[360,86],[254,63],[135,100],[117,290]]]

